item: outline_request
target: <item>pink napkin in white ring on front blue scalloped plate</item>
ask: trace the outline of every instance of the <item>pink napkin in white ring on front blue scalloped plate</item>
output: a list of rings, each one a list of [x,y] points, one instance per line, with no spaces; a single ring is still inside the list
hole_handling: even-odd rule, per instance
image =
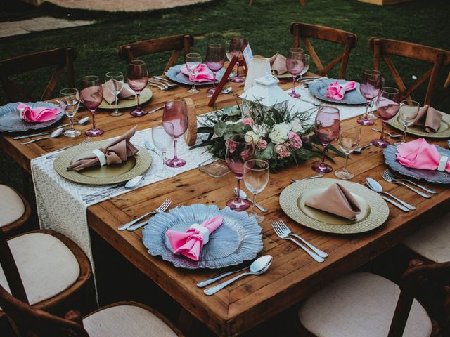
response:
[[[210,234],[217,230],[223,222],[224,218],[214,216],[214,218],[203,221],[201,225],[194,223],[186,232],[167,230],[166,235],[175,254],[181,254],[186,258],[198,261],[203,246],[210,239]]]

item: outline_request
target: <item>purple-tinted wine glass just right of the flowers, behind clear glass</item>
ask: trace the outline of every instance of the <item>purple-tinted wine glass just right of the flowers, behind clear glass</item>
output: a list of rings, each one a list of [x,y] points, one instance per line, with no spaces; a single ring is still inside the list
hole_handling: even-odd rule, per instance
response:
[[[311,168],[319,173],[328,173],[333,168],[325,164],[325,150],[329,143],[338,138],[340,131],[340,116],[337,107],[322,105],[316,115],[314,133],[322,143],[322,160],[316,161]]]

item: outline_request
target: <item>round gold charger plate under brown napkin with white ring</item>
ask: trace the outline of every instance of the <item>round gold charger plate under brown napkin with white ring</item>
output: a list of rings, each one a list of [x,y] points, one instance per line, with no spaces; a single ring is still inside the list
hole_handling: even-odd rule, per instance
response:
[[[82,171],[68,171],[67,168],[73,161],[91,153],[94,149],[107,145],[108,143],[110,143],[110,140],[70,147],[56,157],[53,167],[63,178],[75,183],[87,185],[123,183],[131,178],[140,176],[150,168],[153,160],[150,152],[143,147],[134,145],[138,148],[139,152],[136,153],[133,158],[122,164],[96,166]]]

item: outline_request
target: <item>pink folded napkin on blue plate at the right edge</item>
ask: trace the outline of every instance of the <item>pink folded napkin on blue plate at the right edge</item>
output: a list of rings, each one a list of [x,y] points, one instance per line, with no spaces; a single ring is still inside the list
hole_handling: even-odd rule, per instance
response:
[[[436,170],[441,154],[435,145],[428,144],[424,138],[411,140],[397,146],[397,161],[405,167],[413,169]],[[450,172],[450,162],[447,161],[445,171]]]

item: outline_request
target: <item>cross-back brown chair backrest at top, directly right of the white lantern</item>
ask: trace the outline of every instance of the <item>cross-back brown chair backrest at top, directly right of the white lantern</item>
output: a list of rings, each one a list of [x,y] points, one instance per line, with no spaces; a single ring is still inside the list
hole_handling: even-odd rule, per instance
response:
[[[300,46],[300,39],[302,39],[304,47],[307,48],[309,55],[311,55],[311,59],[314,61],[314,64],[319,71],[319,75],[326,76],[326,74],[340,62],[341,66],[338,78],[345,78],[345,71],[347,70],[350,52],[352,51],[352,48],[356,46],[356,41],[358,40],[356,34],[345,32],[345,30],[341,29],[309,25],[301,22],[293,22],[293,24],[290,25],[290,32],[294,35],[294,47],[298,48]],[[344,45],[344,51],[333,58],[333,60],[324,67],[316,50],[312,46],[311,41],[309,41],[309,38],[342,44]]]

